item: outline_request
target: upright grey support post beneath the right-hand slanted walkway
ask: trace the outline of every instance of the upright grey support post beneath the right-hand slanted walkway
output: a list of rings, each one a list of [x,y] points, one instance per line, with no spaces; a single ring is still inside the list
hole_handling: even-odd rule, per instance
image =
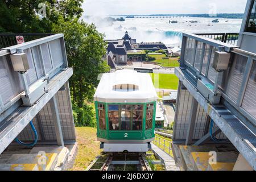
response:
[[[193,97],[192,98],[192,103],[191,103],[191,111],[190,111],[190,115],[189,115],[189,125],[188,125],[185,145],[188,145],[188,144],[192,143],[192,137],[193,137],[193,133],[194,133],[194,129],[195,129],[195,123],[196,123],[197,106],[198,106],[198,102]]]

